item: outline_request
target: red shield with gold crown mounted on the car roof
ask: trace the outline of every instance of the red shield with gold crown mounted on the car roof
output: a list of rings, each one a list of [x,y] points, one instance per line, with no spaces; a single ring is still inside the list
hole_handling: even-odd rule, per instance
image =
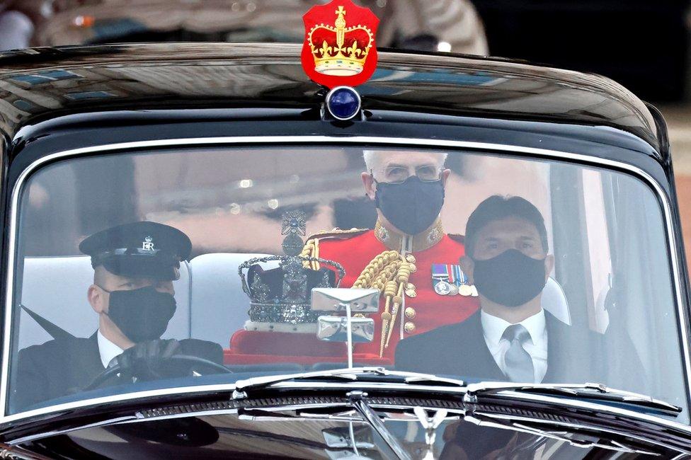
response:
[[[365,83],[377,68],[379,18],[351,0],[313,6],[302,16],[302,68],[316,83],[334,88]]]

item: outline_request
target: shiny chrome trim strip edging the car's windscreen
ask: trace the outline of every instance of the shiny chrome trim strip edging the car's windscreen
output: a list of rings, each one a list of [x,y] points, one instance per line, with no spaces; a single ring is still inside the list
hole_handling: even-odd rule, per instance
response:
[[[661,185],[648,173],[643,171],[641,168],[630,165],[628,163],[623,163],[621,161],[614,161],[610,159],[602,159],[595,156],[588,156],[584,154],[575,154],[566,151],[559,151],[553,149],[537,149],[535,147],[525,147],[525,146],[515,146],[510,144],[491,144],[488,142],[467,142],[467,141],[451,141],[442,139],[419,139],[419,138],[404,138],[404,137],[375,137],[375,136],[352,136],[352,137],[338,137],[338,136],[244,136],[244,137],[203,137],[203,138],[190,138],[190,139],[159,139],[150,141],[140,141],[140,142],[122,142],[117,144],[105,144],[100,146],[88,146],[79,149],[70,149],[66,151],[55,152],[50,155],[43,156],[42,158],[34,161],[28,167],[26,167],[18,177],[16,183],[14,184],[12,195],[11,195],[11,205],[9,209],[10,219],[9,219],[9,245],[8,245],[8,265],[6,270],[6,302],[5,302],[5,316],[4,316],[4,342],[3,342],[3,356],[2,356],[2,369],[0,378],[0,424],[10,422],[13,420],[21,420],[22,418],[28,418],[35,415],[42,415],[47,413],[56,412],[60,410],[60,406],[47,406],[46,408],[40,408],[36,410],[31,410],[23,413],[16,413],[13,415],[7,415],[7,402],[8,402],[8,372],[9,372],[9,348],[11,345],[10,333],[12,324],[12,301],[13,301],[13,289],[14,289],[14,268],[16,263],[16,238],[17,238],[17,214],[18,214],[18,201],[19,195],[23,188],[25,180],[30,176],[36,168],[41,166],[43,163],[49,161],[54,161],[56,159],[66,159],[73,156],[81,156],[93,153],[115,153],[118,151],[132,151],[135,149],[147,149],[147,148],[163,148],[163,147],[175,147],[175,146],[233,146],[236,144],[379,144],[379,145],[391,145],[391,146],[421,146],[422,148],[447,148],[447,149],[467,149],[467,150],[477,150],[477,151],[496,151],[513,156],[527,155],[535,156],[544,159],[556,159],[556,160],[572,160],[578,161],[579,163],[584,163],[591,166],[602,167],[607,166],[609,168],[617,168],[623,171],[628,171],[634,176],[638,176],[641,180],[644,180],[653,190],[655,190],[658,195],[658,199],[661,200],[663,207],[663,215],[666,222],[666,236],[668,239],[668,256],[670,257],[670,264],[672,265],[673,273],[673,289],[675,291],[675,299],[677,301],[677,311],[679,316],[680,334],[683,347],[683,359],[685,362],[685,373],[686,373],[686,397],[687,406],[691,406],[691,357],[689,355],[689,337],[688,337],[688,321],[685,302],[683,300],[682,284],[681,284],[681,268],[680,259],[677,251],[677,238],[674,234],[673,226],[673,214],[671,212],[670,202],[666,193],[664,192]],[[306,385],[305,385],[306,386]],[[190,387],[195,388],[195,387]],[[193,391],[189,391],[190,393]],[[144,392],[147,393],[147,392]],[[155,391],[153,396],[164,396],[172,395],[175,393],[181,393],[181,389],[173,388],[166,389],[164,391]],[[188,391],[183,391],[183,393],[188,393]],[[139,396],[135,396],[139,393],[130,393],[125,395],[110,396],[106,398],[101,398],[103,402],[114,402],[114,401],[125,401],[127,399],[135,399]],[[132,396],[130,398],[130,396]],[[76,403],[70,403],[70,408],[79,408],[81,406],[88,406],[87,400],[77,401]],[[656,418],[658,422],[668,422],[663,418]],[[683,425],[687,426],[687,425]]]

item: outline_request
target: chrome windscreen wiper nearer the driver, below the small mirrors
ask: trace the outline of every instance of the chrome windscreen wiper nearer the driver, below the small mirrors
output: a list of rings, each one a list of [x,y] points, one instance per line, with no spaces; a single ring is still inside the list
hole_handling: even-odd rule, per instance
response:
[[[328,371],[301,372],[299,374],[284,374],[275,376],[253,377],[252,379],[235,382],[234,399],[246,398],[248,390],[263,389],[280,384],[284,381],[377,381],[396,384],[465,386],[465,382],[457,379],[447,379],[431,374],[417,372],[389,371],[384,367],[353,367],[352,369],[332,369]]]

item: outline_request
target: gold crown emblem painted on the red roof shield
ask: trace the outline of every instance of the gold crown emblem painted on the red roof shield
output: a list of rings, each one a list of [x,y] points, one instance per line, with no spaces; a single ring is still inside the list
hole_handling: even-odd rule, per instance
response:
[[[367,54],[375,41],[374,35],[364,25],[345,27],[343,6],[338,6],[336,15],[334,25],[322,23],[309,30],[314,70],[326,75],[357,75],[365,67]]]

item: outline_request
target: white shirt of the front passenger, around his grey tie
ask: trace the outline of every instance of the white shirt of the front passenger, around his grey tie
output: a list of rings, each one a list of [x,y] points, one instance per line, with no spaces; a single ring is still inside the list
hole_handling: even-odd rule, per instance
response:
[[[511,343],[501,336],[511,323],[484,311],[480,312],[480,322],[487,348],[501,372],[506,374],[504,356]],[[547,374],[547,327],[544,321],[544,310],[540,309],[537,314],[525,318],[519,324],[530,333],[530,340],[523,343],[523,349],[532,358],[532,367],[535,371],[534,383],[539,384],[544,379],[544,374]]]

